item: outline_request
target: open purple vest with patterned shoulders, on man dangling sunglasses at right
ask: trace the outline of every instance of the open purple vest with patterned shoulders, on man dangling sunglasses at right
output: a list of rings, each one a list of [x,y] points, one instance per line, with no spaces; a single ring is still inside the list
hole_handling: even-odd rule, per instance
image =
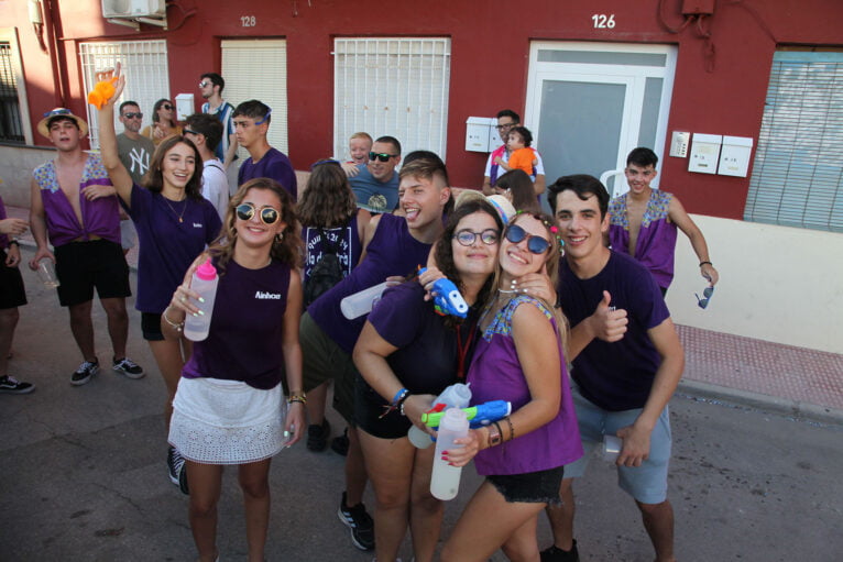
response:
[[[676,223],[668,220],[672,195],[654,189],[642,217],[638,239],[635,241],[635,258],[655,277],[661,288],[674,280],[674,254],[676,253]],[[609,242],[612,250],[629,255],[629,219],[626,194],[609,203]]]

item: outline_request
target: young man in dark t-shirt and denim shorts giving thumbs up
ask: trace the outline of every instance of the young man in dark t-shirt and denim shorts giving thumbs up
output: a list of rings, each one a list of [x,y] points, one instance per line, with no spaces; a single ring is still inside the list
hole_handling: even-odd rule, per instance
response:
[[[685,352],[661,291],[633,257],[603,244],[609,194],[594,177],[560,177],[548,187],[565,241],[558,302],[571,324],[568,359],[585,455],[565,467],[562,505],[548,507],[554,546],[546,561],[577,561],[571,478],[609,433],[623,439],[615,464],[621,487],[642,511],[658,562],[674,559],[674,510],[667,499],[670,422],[667,404]]]

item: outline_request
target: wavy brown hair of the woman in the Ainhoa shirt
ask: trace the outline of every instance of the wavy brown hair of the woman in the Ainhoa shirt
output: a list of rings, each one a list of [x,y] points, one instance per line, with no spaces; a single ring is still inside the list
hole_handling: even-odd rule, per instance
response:
[[[238,220],[234,209],[243,202],[245,195],[251,189],[267,189],[274,192],[281,201],[281,221],[286,224],[281,232],[283,239],[277,238],[273,241],[270,249],[270,257],[276,262],[281,262],[292,267],[302,266],[302,255],[304,251],[304,244],[302,243],[302,236],[298,232],[298,225],[296,223],[296,203],[293,201],[293,197],[284,189],[281,184],[274,179],[266,177],[258,177],[251,179],[240,186],[240,189],[231,197],[226,210],[226,220],[222,221],[222,230],[220,235],[215,240],[208,251],[215,257],[218,257],[218,268],[220,275],[226,271],[226,265],[234,254],[234,246],[237,245],[237,229],[234,224]]]

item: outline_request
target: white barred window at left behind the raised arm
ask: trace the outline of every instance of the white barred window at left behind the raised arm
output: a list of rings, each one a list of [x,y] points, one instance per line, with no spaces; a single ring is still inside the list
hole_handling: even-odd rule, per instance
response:
[[[86,95],[97,84],[96,73],[112,68],[120,62],[125,75],[125,89],[118,106],[125,100],[136,101],[143,113],[143,126],[152,124],[152,108],[157,100],[166,98],[173,101],[169,97],[167,44],[163,40],[80,43],[79,59]],[[90,144],[92,148],[99,148],[97,110],[92,106],[86,107]],[[116,120],[117,117],[114,111]],[[114,126],[118,133],[122,131],[122,125],[117,121]]]

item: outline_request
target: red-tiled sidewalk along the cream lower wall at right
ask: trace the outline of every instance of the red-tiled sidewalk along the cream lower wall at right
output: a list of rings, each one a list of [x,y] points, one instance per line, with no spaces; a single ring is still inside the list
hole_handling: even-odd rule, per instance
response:
[[[7,207],[26,219],[29,209]],[[26,232],[21,242],[34,246]],[[127,261],[136,269],[138,246]],[[843,355],[677,326],[686,367],[679,392],[843,423]]]

